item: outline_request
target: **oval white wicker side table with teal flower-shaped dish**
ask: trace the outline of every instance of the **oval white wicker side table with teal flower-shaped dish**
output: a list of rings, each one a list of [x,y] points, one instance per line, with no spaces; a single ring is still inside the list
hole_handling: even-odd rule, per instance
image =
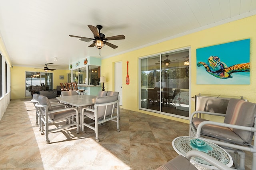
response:
[[[202,142],[204,143],[204,145],[196,146],[194,145],[195,144],[194,141]],[[199,150],[201,152],[204,152],[212,156],[213,158],[215,158],[216,160],[220,161],[222,164],[225,164],[228,167],[231,167],[233,165],[232,157],[230,156],[230,154],[228,154],[228,152],[226,152],[226,150],[204,139],[198,139],[196,137],[186,137],[186,136],[177,137],[172,141],[172,147],[178,154],[181,154],[182,156],[185,156],[186,153],[190,150]],[[202,158],[193,157],[191,159],[191,162],[194,165],[199,165],[199,167],[203,166],[207,169],[218,170],[218,168],[206,162]],[[196,168],[198,167],[196,166]]]

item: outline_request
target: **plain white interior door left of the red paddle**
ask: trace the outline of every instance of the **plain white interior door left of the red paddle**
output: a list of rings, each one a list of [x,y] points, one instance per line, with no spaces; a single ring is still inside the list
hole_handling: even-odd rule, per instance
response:
[[[122,95],[122,62],[115,63],[115,91],[119,92],[119,104],[123,105],[123,95]]]

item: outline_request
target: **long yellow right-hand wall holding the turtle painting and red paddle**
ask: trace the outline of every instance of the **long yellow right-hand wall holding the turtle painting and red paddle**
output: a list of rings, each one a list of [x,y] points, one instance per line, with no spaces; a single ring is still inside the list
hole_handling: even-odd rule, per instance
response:
[[[251,39],[250,45],[250,85],[197,85],[196,84],[196,49],[238,41],[242,39]],[[191,48],[190,71],[191,76],[191,96],[201,94],[217,94],[226,96],[244,96],[250,102],[256,102],[256,16],[233,21],[189,35],[184,35],[169,41],[151,45],[132,52],[121,54],[115,57],[102,60],[101,71],[107,77],[106,90],[114,90],[114,63],[122,61],[122,83],[123,83],[123,108],[133,111],[140,111],[151,115],[158,115],[148,111],[138,109],[138,59],[140,57],[172,51],[184,47]],[[125,41],[125,40],[124,40]],[[242,57],[242,56],[241,56]],[[126,61],[129,61],[130,84],[126,85]],[[112,69],[109,68],[112,63]],[[190,111],[194,111],[194,102],[190,106]],[[168,117],[160,115],[161,117]],[[168,117],[170,118],[170,117]],[[184,119],[172,117],[171,119],[188,122]]]

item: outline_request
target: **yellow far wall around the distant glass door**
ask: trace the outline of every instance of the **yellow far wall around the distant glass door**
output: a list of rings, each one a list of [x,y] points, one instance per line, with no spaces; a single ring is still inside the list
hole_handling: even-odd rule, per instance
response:
[[[38,72],[38,70],[31,67],[13,66],[13,68],[11,68],[11,99],[26,98],[25,97],[26,71]],[[43,70],[39,70],[39,71],[43,72]],[[56,89],[56,86],[60,86],[60,82],[68,82],[67,74],[70,73],[70,70],[54,70],[49,72],[53,73],[53,89]],[[64,75],[64,80],[63,79],[60,80],[59,78],[60,75]]]

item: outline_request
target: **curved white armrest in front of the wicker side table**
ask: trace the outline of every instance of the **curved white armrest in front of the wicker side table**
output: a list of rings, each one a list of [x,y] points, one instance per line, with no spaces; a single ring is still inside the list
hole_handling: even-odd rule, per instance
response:
[[[216,160],[212,156],[209,156],[208,154],[205,154],[205,153],[197,151],[197,150],[190,150],[186,154],[185,157],[188,160],[190,160],[193,156],[197,156],[197,157],[200,157],[200,158],[206,160],[207,162],[209,162],[210,164],[213,164],[215,167],[219,168],[220,170],[234,170],[234,169],[222,164],[220,161]]]

